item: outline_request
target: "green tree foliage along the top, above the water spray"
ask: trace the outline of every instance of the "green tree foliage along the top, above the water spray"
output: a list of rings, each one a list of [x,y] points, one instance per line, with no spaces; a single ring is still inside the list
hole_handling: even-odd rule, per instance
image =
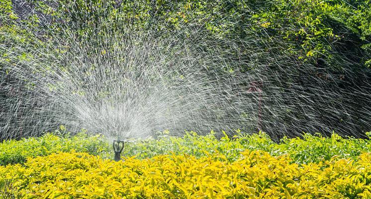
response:
[[[20,3],[1,0],[1,29],[4,33],[1,42],[4,44],[10,45],[9,41],[28,44],[34,42],[32,37],[38,38],[39,42],[47,42],[45,37],[54,36],[54,31],[62,34],[70,28],[75,28],[73,31],[81,37],[89,37],[95,26],[102,26],[99,34],[104,37],[123,28],[120,25],[125,24],[117,22],[126,20],[137,28],[155,27],[159,34],[186,27],[186,24],[210,30],[212,36],[238,36],[241,41],[247,41],[254,33],[263,37],[259,41],[262,47],[268,47],[264,46],[264,42],[271,37],[278,37],[287,44],[285,47],[278,46],[279,50],[285,49],[303,60],[319,62],[322,59],[324,63],[317,64],[324,66],[333,62],[340,64],[336,59],[349,60],[348,64],[357,60],[365,66],[371,63],[369,0],[60,0],[55,3],[30,0],[26,3],[31,7],[30,13],[21,13],[24,7]],[[24,23],[29,29],[21,29]],[[79,25],[68,26],[70,23]],[[33,32],[50,25],[56,30]],[[250,32],[252,30],[254,32]],[[12,47],[15,50],[15,46]]]

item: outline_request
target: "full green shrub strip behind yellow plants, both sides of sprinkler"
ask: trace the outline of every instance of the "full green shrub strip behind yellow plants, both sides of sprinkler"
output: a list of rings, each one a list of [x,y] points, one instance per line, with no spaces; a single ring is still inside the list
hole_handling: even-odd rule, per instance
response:
[[[57,152],[87,152],[102,158],[113,158],[111,143],[102,135],[89,136],[86,132],[75,136],[59,136],[59,131],[41,137],[0,143],[0,165],[24,163],[27,157],[46,156]],[[366,133],[370,135],[370,133]],[[193,155],[197,158],[219,153],[233,162],[245,150],[263,150],[272,156],[288,154],[297,164],[330,160],[333,156],[357,160],[361,153],[371,152],[368,139],[343,138],[338,134],[322,137],[304,134],[303,138],[283,138],[273,141],[265,133],[244,134],[220,139],[214,132],[197,135],[188,132],[183,137],[162,136],[159,139],[137,140],[126,144],[122,155],[137,159],[152,158],[163,154]]]

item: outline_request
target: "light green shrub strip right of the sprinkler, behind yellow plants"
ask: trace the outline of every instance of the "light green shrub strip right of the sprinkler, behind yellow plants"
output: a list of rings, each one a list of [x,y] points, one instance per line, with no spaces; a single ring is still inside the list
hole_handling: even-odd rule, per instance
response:
[[[220,139],[215,137],[214,132],[203,136],[189,132],[184,137],[169,136],[159,140],[129,143],[122,153],[124,156],[143,159],[172,153],[204,157],[217,151],[233,162],[240,158],[239,153],[244,150],[263,150],[273,156],[288,154],[293,162],[306,164],[328,161],[333,156],[356,160],[361,153],[371,152],[371,141],[352,137],[342,138],[336,133],[331,137],[305,133],[303,138],[284,137],[277,143],[264,132],[254,134],[239,132],[233,137],[225,134]]]

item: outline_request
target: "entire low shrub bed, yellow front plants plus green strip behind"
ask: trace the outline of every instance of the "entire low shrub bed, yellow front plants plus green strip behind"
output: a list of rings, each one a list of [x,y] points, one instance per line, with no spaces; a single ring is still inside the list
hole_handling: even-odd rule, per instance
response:
[[[165,132],[130,142],[114,162],[103,136],[58,133],[0,144],[1,198],[371,197],[369,140]]]

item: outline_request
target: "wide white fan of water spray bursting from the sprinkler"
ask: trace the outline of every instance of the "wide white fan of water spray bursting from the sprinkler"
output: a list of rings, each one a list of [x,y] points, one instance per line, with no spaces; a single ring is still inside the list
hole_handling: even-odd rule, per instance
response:
[[[181,28],[159,30],[162,17],[138,28],[147,18],[111,20],[93,11],[76,17],[80,8],[60,3],[68,9],[59,10],[58,20],[41,17],[42,30],[17,22],[35,37],[13,43],[6,33],[0,44],[6,55],[0,59],[0,141],[39,136],[63,123],[72,132],[84,128],[116,139],[119,159],[124,143],[118,138],[145,138],[158,129],[172,135],[259,129],[277,141],[302,131],[361,137],[370,130],[371,69],[361,66],[366,57],[338,51],[341,42],[331,42],[339,46],[328,59],[321,54],[303,62],[301,48],[288,50],[286,39],[260,31],[271,28],[257,31],[244,20],[241,36],[237,12],[214,34],[193,12],[194,21],[179,21]]]

